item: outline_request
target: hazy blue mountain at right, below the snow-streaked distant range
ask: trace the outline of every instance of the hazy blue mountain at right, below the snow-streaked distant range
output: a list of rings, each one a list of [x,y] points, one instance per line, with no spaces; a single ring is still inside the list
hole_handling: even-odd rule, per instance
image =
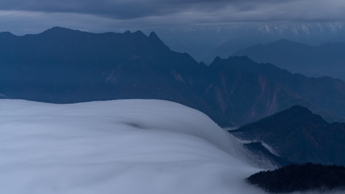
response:
[[[233,56],[247,55],[257,62],[270,62],[279,68],[306,76],[331,76],[345,80],[345,43],[310,46],[286,39],[239,50]]]

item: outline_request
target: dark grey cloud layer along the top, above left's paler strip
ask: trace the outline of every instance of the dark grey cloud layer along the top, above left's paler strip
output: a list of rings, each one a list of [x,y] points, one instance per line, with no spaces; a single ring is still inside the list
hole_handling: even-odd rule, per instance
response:
[[[76,23],[93,17],[126,27],[345,20],[343,0],[2,0],[1,10],[46,13],[52,22],[59,14],[77,16],[69,19]]]

